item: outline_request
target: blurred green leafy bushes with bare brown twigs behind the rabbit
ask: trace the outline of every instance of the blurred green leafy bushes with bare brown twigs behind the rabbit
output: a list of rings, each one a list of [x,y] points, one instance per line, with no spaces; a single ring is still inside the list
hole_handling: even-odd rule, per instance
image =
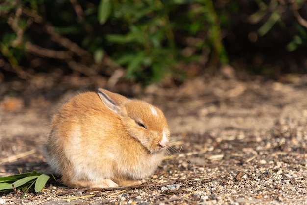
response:
[[[286,30],[284,13],[297,12],[306,4],[304,0],[251,2],[254,6],[245,15],[249,24],[259,25],[259,38],[276,24]],[[230,0],[2,1],[0,65],[23,78],[29,67],[48,72],[61,65],[85,75],[105,75],[106,68],[123,67],[128,79],[157,82],[184,74],[189,62],[203,67],[210,61],[229,63],[222,40],[231,30],[231,17],[244,13],[241,4]],[[299,20],[295,24],[288,51],[307,42],[306,28]],[[33,66],[37,58],[46,63]]]

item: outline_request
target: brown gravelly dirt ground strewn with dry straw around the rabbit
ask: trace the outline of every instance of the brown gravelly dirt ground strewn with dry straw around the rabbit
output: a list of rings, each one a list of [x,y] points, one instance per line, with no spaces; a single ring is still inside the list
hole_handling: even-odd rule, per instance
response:
[[[48,171],[42,143],[52,110],[78,84],[92,90],[104,86],[74,80],[57,86],[46,80],[44,89],[37,81],[1,83],[0,176]],[[146,184],[77,190],[54,183],[24,199],[2,194],[0,204],[306,204],[307,76],[285,81],[242,81],[226,73],[178,88],[151,85],[133,96],[165,112],[172,144]],[[131,96],[125,86],[115,90]]]

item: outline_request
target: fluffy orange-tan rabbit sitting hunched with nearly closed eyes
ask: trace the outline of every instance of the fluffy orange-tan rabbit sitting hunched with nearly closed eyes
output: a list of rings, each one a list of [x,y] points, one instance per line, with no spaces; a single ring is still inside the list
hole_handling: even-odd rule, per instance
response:
[[[131,186],[153,174],[169,137],[160,109],[100,88],[62,105],[44,151],[69,187]]]

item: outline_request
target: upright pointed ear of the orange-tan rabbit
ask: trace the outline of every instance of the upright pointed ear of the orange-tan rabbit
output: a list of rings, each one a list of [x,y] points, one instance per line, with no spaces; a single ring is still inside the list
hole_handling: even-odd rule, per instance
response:
[[[122,112],[122,107],[128,102],[128,98],[110,91],[104,90],[102,88],[98,89],[98,95],[102,103],[111,111],[120,114]]]

